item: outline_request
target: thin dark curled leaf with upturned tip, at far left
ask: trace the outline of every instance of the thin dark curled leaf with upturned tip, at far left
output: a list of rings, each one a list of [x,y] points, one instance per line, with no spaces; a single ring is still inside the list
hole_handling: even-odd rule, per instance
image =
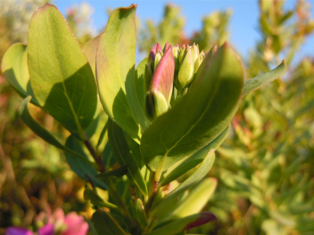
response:
[[[86,163],[89,163],[88,159],[85,159],[82,155],[74,152],[73,150],[67,148],[63,144],[61,144],[49,131],[47,131],[45,128],[43,128],[31,115],[28,111],[28,104],[31,100],[31,96],[26,97],[23,102],[21,103],[19,115],[21,116],[24,123],[40,138],[48,142],[49,144],[52,144],[53,146],[56,146],[59,149],[62,149],[65,152],[68,152],[75,156],[76,158],[80,158]]]

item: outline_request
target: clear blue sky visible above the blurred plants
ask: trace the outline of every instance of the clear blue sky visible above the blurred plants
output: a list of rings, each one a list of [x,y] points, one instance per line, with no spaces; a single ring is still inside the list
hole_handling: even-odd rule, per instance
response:
[[[260,39],[258,33],[258,1],[254,0],[212,0],[212,1],[61,1],[55,0],[53,4],[59,8],[62,14],[66,14],[68,8],[74,4],[88,2],[94,9],[92,16],[93,25],[97,32],[103,29],[108,20],[107,8],[126,7],[132,3],[138,4],[137,16],[144,22],[146,19],[152,19],[154,22],[160,22],[164,6],[167,3],[174,3],[181,7],[181,13],[185,16],[185,32],[189,36],[194,31],[201,29],[202,18],[214,10],[232,9],[230,19],[230,42],[235,49],[244,57],[254,47]],[[293,9],[296,0],[286,1],[285,8]],[[313,1],[311,4],[311,17],[313,18]],[[306,43],[299,51],[299,58],[311,55],[314,56],[314,35],[306,39]]]

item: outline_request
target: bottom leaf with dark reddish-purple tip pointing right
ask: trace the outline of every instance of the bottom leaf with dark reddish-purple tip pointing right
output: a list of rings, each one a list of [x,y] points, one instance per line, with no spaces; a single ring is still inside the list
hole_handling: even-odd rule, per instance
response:
[[[183,230],[197,227],[213,220],[217,220],[217,217],[212,212],[200,212],[198,214],[177,219],[163,227],[153,230],[152,232],[145,233],[145,235],[177,234]]]

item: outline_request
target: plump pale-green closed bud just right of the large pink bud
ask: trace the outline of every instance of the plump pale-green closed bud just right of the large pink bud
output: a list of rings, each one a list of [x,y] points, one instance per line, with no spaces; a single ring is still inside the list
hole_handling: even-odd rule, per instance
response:
[[[180,62],[178,80],[181,86],[185,87],[192,81],[193,77],[194,77],[194,61],[192,49],[189,46],[187,46],[187,48],[184,51],[183,58]]]

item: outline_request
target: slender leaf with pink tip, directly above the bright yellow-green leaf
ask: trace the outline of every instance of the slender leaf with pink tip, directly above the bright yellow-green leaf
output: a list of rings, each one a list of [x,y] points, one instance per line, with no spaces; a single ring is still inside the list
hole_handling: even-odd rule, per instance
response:
[[[164,214],[165,211],[170,211],[173,208],[173,199],[177,198],[182,192],[188,190],[190,187],[198,183],[202,180],[211,169],[215,160],[215,152],[214,149],[211,149],[207,156],[204,158],[202,164],[198,167],[198,169],[186,180],[184,180],[176,189],[171,191],[165,198],[158,203],[152,211],[154,215]]]

